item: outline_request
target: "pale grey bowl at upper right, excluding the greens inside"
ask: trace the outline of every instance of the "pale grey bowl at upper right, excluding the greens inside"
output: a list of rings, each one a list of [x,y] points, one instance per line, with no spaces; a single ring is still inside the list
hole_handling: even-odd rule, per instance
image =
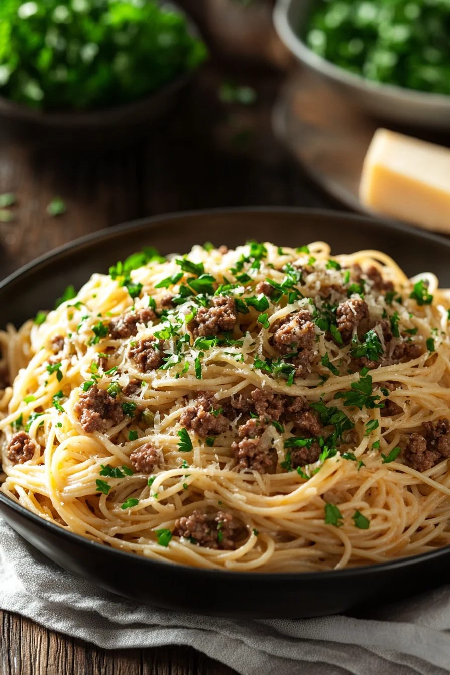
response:
[[[378,84],[339,68],[309,49],[301,36],[313,4],[314,0],[277,0],[273,13],[281,40],[300,63],[375,117],[408,126],[450,129],[450,96]]]

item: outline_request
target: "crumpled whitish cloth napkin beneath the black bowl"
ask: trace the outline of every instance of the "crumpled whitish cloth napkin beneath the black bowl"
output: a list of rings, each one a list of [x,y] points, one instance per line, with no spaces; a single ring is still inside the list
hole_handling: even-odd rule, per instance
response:
[[[179,614],[125,600],[65,572],[1,519],[0,607],[106,649],[191,645],[241,675],[450,672],[450,585],[383,607],[370,619]]]

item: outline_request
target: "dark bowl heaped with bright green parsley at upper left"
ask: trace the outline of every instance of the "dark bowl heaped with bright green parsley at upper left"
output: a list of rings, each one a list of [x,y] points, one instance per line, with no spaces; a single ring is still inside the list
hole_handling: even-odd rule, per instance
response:
[[[150,119],[206,56],[172,4],[1,0],[0,112],[66,128]]]

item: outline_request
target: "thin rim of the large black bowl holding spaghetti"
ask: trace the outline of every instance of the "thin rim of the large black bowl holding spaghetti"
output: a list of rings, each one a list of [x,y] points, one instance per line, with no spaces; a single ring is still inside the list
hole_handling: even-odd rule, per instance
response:
[[[422,238],[424,240],[430,240],[431,242],[434,242],[436,244],[441,244],[445,246],[445,248],[450,249],[450,242],[447,240],[445,237],[440,236],[439,234],[434,234],[432,232],[427,232],[427,231],[422,231],[420,229],[412,228],[408,225],[403,225],[403,223],[395,223],[395,222],[389,222],[385,221],[383,219],[378,219],[378,218],[372,218],[364,215],[360,215],[358,213],[347,213],[345,211],[333,211],[331,209],[308,209],[308,208],[302,208],[302,207],[232,207],[232,208],[217,208],[217,209],[198,209],[196,211],[180,211],[180,212],[173,212],[173,213],[165,213],[162,215],[156,215],[152,217],[145,217],[141,218],[138,220],[130,221],[128,223],[123,223],[121,225],[115,225],[113,227],[106,227],[103,229],[100,229],[96,232],[92,232],[90,234],[84,235],[82,237],[77,238],[76,240],[73,240],[71,242],[68,242],[67,244],[62,244],[61,246],[58,246],[57,248],[53,248],[49,252],[41,255],[34,261],[31,261],[30,263],[27,263],[26,265],[23,265],[20,267],[17,271],[13,272],[12,274],[8,275],[3,281],[0,282],[0,290],[3,290],[3,288],[7,287],[9,284],[11,284],[13,281],[16,281],[19,277],[22,277],[23,275],[26,275],[30,271],[33,271],[35,268],[41,267],[42,265],[45,265],[46,263],[49,263],[50,261],[56,261],[58,257],[63,257],[63,254],[65,252],[69,252],[72,250],[76,249],[82,249],[86,245],[92,244],[94,242],[97,242],[99,240],[107,240],[108,238],[115,238],[115,236],[122,234],[123,232],[130,232],[133,229],[136,229],[137,231],[143,227],[144,225],[148,227],[148,229],[152,229],[153,227],[157,227],[157,225],[160,225],[164,221],[167,220],[173,220],[173,219],[184,219],[186,217],[214,217],[217,215],[233,215],[233,214],[258,214],[258,213],[279,213],[279,214],[289,214],[292,216],[297,216],[297,217],[318,217],[318,218],[329,218],[334,221],[343,221],[343,220],[353,220],[353,221],[358,221],[359,223],[376,223],[376,226],[383,230],[395,230],[399,234],[411,234],[413,231],[416,236],[419,238]],[[119,549],[116,549],[112,546],[108,546],[107,544],[104,543],[99,543],[96,541],[92,541],[91,539],[88,539],[86,537],[82,537],[82,535],[78,535],[76,533],[70,532],[66,529],[63,529],[62,526],[58,526],[57,524],[54,524],[53,522],[49,522],[45,518],[41,518],[40,516],[32,513],[28,509],[26,509],[24,506],[21,506],[17,502],[15,502],[13,499],[10,497],[7,497],[4,493],[0,492],[0,502],[2,502],[7,508],[11,508],[12,510],[16,511],[18,514],[21,516],[24,516],[24,518],[31,520],[34,522],[34,524],[42,527],[43,529],[47,528],[49,529],[50,533],[53,535],[61,535],[61,537],[68,537],[72,543],[77,544],[79,546],[84,547],[85,549],[91,549],[94,547],[94,549],[98,553],[104,553],[105,555],[111,555],[115,556],[117,560],[123,562],[123,564],[126,564],[126,562],[131,562],[131,560],[138,560],[141,564],[148,564],[151,567],[154,568],[155,572],[159,569],[167,569],[167,566],[175,566],[175,568],[181,568],[183,570],[184,574],[188,574],[190,576],[193,576],[194,578],[198,578],[201,576],[204,576],[207,574],[211,578],[217,577],[217,575],[223,575],[224,578],[229,578],[230,580],[237,580],[237,581],[248,581],[249,579],[249,572],[241,572],[238,570],[226,570],[226,569],[217,569],[217,568],[200,568],[200,567],[194,567],[194,566],[189,566],[189,565],[183,565],[183,564],[177,564],[173,563],[170,560],[152,560],[150,558],[146,558],[145,556],[140,556],[138,553],[130,553],[128,551],[121,551]],[[1,516],[0,516],[1,517]],[[14,529],[14,528],[13,528]],[[22,536],[22,535],[20,535]],[[108,552],[107,552],[108,551]],[[341,570],[324,570],[324,571],[319,571],[319,572],[257,572],[256,570],[254,571],[254,574],[258,575],[258,579],[262,579],[263,581],[269,581],[269,580],[280,580],[280,581],[291,581],[293,578],[296,580],[302,580],[302,581],[308,581],[308,579],[311,580],[333,580],[333,578],[339,574],[339,579],[341,578],[351,578],[353,576],[361,576],[364,574],[383,574],[386,570],[398,570],[399,568],[403,568],[405,566],[410,566],[414,564],[418,564],[421,561],[431,561],[431,560],[437,560],[441,557],[447,557],[450,554],[450,545],[443,546],[441,548],[438,548],[434,551],[428,551],[426,553],[418,553],[414,556],[407,556],[405,558],[397,558],[395,560],[387,560],[386,562],[378,562],[378,563],[372,563],[372,564],[364,564],[362,566],[358,567],[347,567],[343,568]],[[163,567],[162,567],[163,566]],[[252,578],[250,576],[250,578]]]

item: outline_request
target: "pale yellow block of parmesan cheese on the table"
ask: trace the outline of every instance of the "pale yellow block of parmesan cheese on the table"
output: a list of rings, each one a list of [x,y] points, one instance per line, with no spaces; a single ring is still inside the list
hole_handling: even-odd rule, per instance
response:
[[[371,211],[450,232],[450,150],[377,129],[362,168],[360,201]]]

